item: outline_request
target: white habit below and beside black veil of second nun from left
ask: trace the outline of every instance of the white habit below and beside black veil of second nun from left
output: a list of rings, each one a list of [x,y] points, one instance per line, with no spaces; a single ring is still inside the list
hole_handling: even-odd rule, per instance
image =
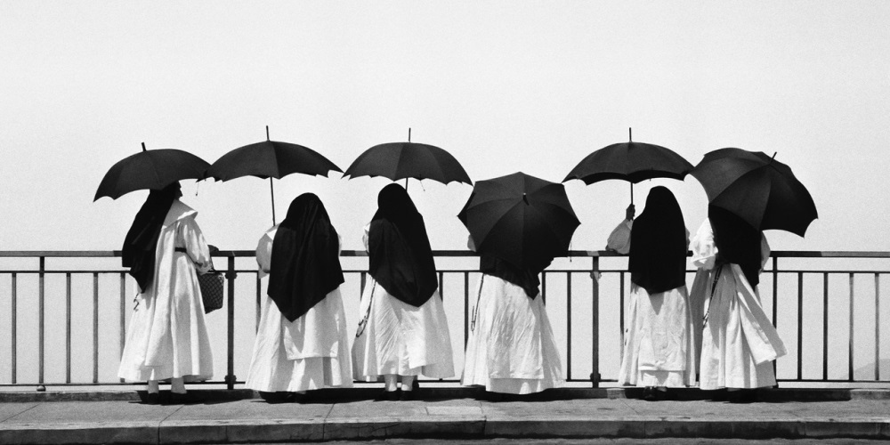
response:
[[[277,225],[266,231],[256,247],[261,279],[271,270],[276,231]],[[263,295],[247,388],[262,392],[350,388],[351,367],[339,287],[294,321],[288,321],[269,295]]]

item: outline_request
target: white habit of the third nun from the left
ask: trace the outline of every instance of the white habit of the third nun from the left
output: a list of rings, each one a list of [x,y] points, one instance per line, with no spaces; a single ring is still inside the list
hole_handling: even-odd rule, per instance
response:
[[[369,227],[365,226],[366,250]],[[352,344],[356,380],[376,381],[387,374],[454,376],[451,336],[438,289],[416,307],[390,295],[368,274],[359,304],[361,320],[366,314],[368,320],[359,326]]]

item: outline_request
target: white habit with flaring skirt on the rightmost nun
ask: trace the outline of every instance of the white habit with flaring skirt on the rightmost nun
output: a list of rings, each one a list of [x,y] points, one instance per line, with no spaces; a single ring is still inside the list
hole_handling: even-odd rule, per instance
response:
[[[765,238],[761,238],[761,252],[765,264],[770,252]],[[707,314],[701,336],[700,387],[773,386],[772,361],[786,354],[785,344],[739,265],[716,265],[716,254],[714,234],[706,219],[692,240],[692,263],[699,271],[691,300],[703,303],[701,310]]]

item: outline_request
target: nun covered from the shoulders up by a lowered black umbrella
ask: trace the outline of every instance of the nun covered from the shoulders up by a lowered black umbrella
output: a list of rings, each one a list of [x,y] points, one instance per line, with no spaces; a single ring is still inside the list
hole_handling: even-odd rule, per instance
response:
[[[467,243],[475,250],[473,238]],[[540,270],[481,255],[476,305],[461,384],[485,391],[530,394],[560,388],[562,360],[540,293]]]

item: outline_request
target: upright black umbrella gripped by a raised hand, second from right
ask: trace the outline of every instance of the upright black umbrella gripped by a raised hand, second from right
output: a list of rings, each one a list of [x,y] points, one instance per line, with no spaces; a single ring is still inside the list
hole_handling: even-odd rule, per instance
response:
[[[660,145],[621,142],[603,147],[581,159],[562,180],[580,179],[587,185],[607,179],[630,182],[630,203],[634,203],[634,184],[652,178],[683,180],[692,171],[692,164],[673,150]]]

